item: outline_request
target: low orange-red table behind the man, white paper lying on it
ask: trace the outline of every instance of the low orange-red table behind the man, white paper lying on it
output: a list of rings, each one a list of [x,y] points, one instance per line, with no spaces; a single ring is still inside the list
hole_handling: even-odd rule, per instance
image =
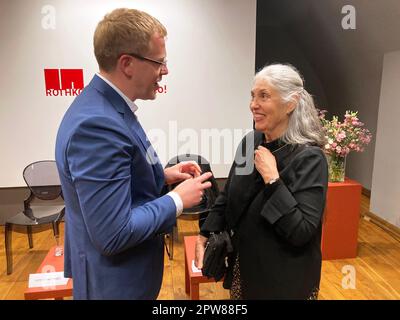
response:
[[[37,270],[37,273],[64,271],[64,255],[56,257],[54,255],[55,249],[56,246],[50,249],[39,269]],[[66,285],[28,288],[25,290],[24,296],[25,300],[62,300],[64,297],[72,297],[72,279],[69,279]]]

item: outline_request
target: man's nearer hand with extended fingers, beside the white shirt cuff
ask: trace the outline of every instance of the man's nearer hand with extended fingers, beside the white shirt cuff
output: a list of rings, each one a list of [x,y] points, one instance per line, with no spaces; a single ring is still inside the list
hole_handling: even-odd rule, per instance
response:
[[[184,209],[200,203],[203,190],[211,187],[211,182],[206,181],[211,177],[211,172],[203,173],[201,176],[183,181],[173,190],[181,197]]]

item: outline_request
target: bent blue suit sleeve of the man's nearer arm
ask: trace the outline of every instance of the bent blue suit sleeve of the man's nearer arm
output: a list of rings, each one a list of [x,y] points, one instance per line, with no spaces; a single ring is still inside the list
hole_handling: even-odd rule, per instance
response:
[[[114,255],[166,232],[176,208],[167,195],[137,205],[132,199],[135,152],[126,128],[109,117],[91,117],[71,136],[66,158],[86,230],[104,255]]]

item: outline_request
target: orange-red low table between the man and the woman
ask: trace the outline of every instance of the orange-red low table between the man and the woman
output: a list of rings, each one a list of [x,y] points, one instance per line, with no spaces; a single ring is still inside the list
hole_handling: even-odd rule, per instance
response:
[[[199,284],[215,282],[213,278],[208,279],[201,272],[193,272],[192,264],[194,261],[195,245],[197,236],[184,237],[185,250],[185,291],[191,300],[199,300]]]

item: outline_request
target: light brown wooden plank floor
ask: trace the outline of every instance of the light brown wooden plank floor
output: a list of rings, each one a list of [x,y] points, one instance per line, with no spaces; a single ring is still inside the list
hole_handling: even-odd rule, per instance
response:
[[[369,210],[369,199],[362,198],[361,213]],[[64,226],[61,225],[63,232]],[[158,299],[188,299],[185,294],[183,236],[197,234],[197,221],[178,220],[179,237],[174,259],[165,258],[165,273]],[[34,234],[29,249],[25,234],[13,233],[14,272],[6,275],[4,227],[0,227],[0,299],[23,299],[30,273],[35,273],[47,250],[55,245],[50,229]],[[353,282],[349,270],[355,271]],[[352,288],[354,284],[355,288]],[[221,283],[200,285],[201,299],[228,299]],[[374,223],[361,219],[359,252],[356,259],[323,261],[321,291],[325,299],[400,299],[400,242]]]

